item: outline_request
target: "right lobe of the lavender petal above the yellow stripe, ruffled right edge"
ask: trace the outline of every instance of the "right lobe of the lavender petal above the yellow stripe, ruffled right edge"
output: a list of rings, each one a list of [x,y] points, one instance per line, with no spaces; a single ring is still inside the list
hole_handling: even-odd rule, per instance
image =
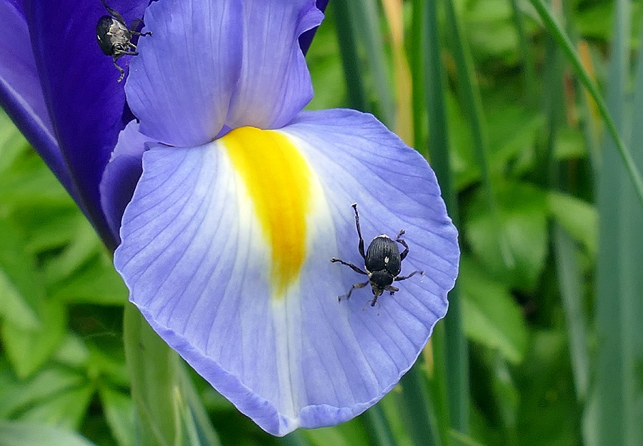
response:
[[[312,84],[299,36],[324,14],[314,0],[247,0],[243,64],[226,124],[279,129],[312,99]]]

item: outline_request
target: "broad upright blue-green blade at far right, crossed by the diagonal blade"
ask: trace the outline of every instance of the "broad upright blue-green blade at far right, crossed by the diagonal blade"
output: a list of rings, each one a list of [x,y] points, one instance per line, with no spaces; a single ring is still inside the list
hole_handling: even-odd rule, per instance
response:
[[[612,61],[609,67],[607,106],[597,100],[599,109],[605,107],[609,116],[608,127],[618,136],[625,124],[625,94],[629,78],[629,36],[631,33],[631,3],[616,2]],[[628,422],[631,402],[629,395],[631,370],[629,360],[627,304],[625,302],[623,234],[623,166],[614,150],[614,144],[624,143],[620,137],[606,139],[602,151],[598,183],[599,256],[597,262],[597,402],[598,437],[601,445],[634,445],[628,441]],[[626,164],[627,167],[627,164]],[[635,169],[632,164],[632,168]],[[639,207],[639,212],[641,209]],[[639,262],[637,262],[640,264]],[[637,274],[640,274],[638,272]],[[638,333],[640,336],[640,332]],[[639,425],[640,428],[640,425]]]

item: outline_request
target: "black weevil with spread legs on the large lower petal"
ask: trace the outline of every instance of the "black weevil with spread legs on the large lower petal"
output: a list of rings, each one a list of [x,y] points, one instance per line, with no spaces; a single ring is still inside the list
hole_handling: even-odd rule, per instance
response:
[[[359,227],[357,203],[353,203],[352,207],[355,210],[355,225],[357,226],[357,235],[359,236],[358,250],[359,254],[364,258],[364,269],[366,269],[366,271],[364,272],[354,264],[344,262],[344,260],[336,259],[335,257],[331,259],[331,262],[339,262],[347,267],[351,267],[354,272],[364,274],[368,276],[369,279],[367,282],[354,284],[347,294],[339,296],[337,299],[339,301],[342,300],[342,297],[348,299],[351,297],[351,293],[354,289],[364,288],[370,284],[374,296],[373,300],[370,302],[371,307],[374,307],[377,303],[377,298],[381,296],[384,291],[388,291],[391,295],[393,295],[394,292],[399,291],[399,288],[393,286],[393,282],[408,279],[418,272],[424,275],[424,271],[414,271],[406,276],[399,276],[399,273],[402,272],[402,260],[404,260],[407,257],[407,254],[409,254],[409,245],[401,238],[402,235],[404,235],[404,229],[397,234],[395,240],[391,239],[386,234],[378,235],[369,244],[369,248],[367,249],[366,254],[364,254],[364,239],[362,239],[362,229]],[[404,251],[402,253],[399,252],[399,247],[397,246],[398,243],[404,247]]]

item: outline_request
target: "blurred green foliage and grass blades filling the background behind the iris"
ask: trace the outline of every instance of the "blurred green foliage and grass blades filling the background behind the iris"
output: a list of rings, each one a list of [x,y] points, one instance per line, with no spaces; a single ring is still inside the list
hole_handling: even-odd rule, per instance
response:
[[[337,427],[271,437],[184,372],[186,392],[167,392],[171,444],[643,445],[643,206],[619,155],[643,170],[641,12],[330,0],[306,56],[308,108],[371,112],[429,159],[462,247],[449,314],[401,385]],[[0,112],[1,446],[148,444],[126,299]]]

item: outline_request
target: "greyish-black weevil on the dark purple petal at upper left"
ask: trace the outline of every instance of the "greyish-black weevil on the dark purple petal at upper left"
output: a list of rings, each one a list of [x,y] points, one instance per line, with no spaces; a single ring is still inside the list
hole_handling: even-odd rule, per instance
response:
[[[114,66],[121,73],[117,81],[120,82],[125,76],[125,70],[119,64],[116,64],[116,61],[126,54],[129,56],[139,55],[138,51],[136,51],[136,45],[131,42],[131,36],[149,36],[151,32],[141,33],[136,31],[136,26],[139,26],[142,22],[141,19],[134,20],[134,23],[128,29],[123,16],[116,9],[111,9],[107,6],[105,0],[101,1],[110,15],[102,16],[98,24],[96,24],[96,39],[99,41],[101,51],[112,57]]]

